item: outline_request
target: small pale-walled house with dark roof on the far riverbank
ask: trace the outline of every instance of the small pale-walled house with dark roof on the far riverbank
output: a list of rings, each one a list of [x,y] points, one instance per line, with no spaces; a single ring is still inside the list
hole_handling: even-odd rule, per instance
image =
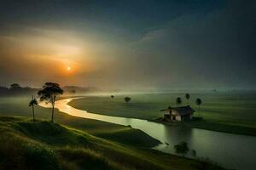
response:
[[[167,121],[189,121],[193,118],[193,113],[195,112],[189,105],[182,107],[171,107],[167,109],[160,110],[164,112],[164,118]]]

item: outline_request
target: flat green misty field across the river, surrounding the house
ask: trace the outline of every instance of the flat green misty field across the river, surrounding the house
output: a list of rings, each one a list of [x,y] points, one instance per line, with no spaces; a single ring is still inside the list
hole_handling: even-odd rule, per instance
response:
[[[154,120],[163,113],[161,109],[176,106],[176,98],[183,99],[182,105],[191,105],[195,116],[202,116],[203,121],[189,122],[190,127],[230,133],[256,135],[256,94],[249,92],[232,93],[197,93],[190,94],[189,102],[184,94],[130,94],[131,101],[125,103],[124,95],[90,96],[75,99],[69,103],[75,108],[110,116],[124,116]],[[201,110],[195,105],[195,99],[201,98]]]

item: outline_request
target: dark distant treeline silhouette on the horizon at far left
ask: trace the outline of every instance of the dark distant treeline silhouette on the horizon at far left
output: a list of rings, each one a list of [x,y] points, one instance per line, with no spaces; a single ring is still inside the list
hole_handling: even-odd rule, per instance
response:
[[[38,88],[21,87],[18,83],[13,83],[9,88],[0,86],[0,96],[36,94]]]

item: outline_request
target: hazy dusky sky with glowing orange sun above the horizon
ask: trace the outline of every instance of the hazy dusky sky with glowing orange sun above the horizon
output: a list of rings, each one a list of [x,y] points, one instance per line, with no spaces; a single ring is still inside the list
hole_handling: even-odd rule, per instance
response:
[[[256,1],[1,0],[0,86],[256,87]]]

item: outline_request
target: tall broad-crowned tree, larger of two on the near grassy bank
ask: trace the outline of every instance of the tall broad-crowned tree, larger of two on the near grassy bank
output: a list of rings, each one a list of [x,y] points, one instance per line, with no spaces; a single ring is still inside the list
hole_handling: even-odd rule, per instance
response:
[[[54,82],[46,82],[42,90],[38,91],[38,95],[41,101],[47,101],[52,105],[51,111],[51,122],[54,122],[54,112],[55,112],[55,100],[56,97],[63,94],[63,90],[60,85]]]

